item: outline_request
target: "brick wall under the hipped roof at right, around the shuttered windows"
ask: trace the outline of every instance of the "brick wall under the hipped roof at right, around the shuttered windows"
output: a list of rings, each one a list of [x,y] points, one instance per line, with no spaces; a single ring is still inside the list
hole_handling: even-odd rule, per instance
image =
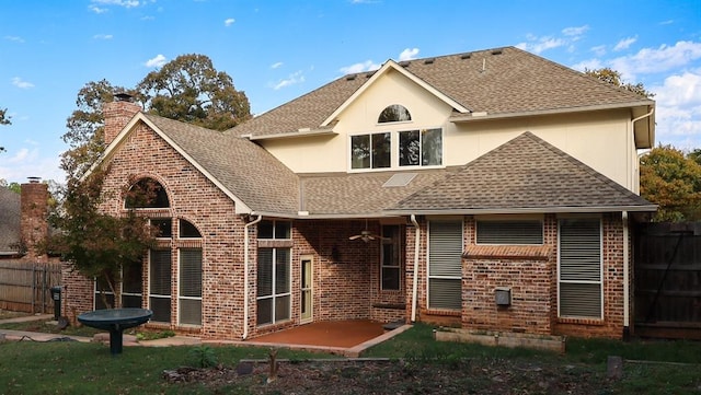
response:
[[[421,221],[417,321],[474,329],[620,338],[623,334],[623,229],[620,213],[602,216],[604,318],[558,317],[558,219],[544,217],[543,245],[475,245],[475,222],[463,219],[467,256],[462,260],[462,311],[427,309],[426,226]],[[406,316],[411,314],[415,230],[406,235]],[[630,235],[629,235],[630,237]],[[630,251],[629,251],[630,254]],[[632,264],[629,264],[632,269]],[[497,306],[497,287],[512,291],[510,306]]]

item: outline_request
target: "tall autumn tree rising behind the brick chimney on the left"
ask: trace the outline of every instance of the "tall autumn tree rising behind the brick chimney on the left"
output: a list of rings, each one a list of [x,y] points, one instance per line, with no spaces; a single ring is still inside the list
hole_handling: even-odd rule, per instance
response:
[[[231,77],[217,71],[204,55],[183,55],[148,73],[134,89],[112,85],[107,80],[88,82],[78,92],[62,136],[70,149],[61,169],[80,176],[105,149],[102,107],[116,93],[136,97],[145,111],[166,118],[226,130],[251,117],[249,100],[234,89]]]

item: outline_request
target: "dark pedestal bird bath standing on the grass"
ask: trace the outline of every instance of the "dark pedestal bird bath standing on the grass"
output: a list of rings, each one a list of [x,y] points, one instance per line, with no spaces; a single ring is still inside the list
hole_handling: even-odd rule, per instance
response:
[[[93,328],[110,330],[110,352],[116,356],[122,353],[124,329],[147,323],[151,315],[153,312],[147,309],[106,309],[80,314],[78,321]]]

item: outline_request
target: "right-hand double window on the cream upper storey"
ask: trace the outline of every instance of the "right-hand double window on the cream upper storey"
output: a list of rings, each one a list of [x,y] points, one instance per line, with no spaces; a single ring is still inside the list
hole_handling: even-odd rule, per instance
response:
[[[399,132],[400,166],[438,166],[443,164],[441,129]]]

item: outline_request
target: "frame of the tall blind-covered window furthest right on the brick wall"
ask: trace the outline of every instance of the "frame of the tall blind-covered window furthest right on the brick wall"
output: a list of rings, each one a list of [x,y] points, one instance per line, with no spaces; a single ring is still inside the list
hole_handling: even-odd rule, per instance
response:
[[[576,280],[566,279],[563,280],[563,252],[562,252],[562,225],[565,222],[579,221],[588,222],[596,221],[598,223],[598,279],[597,280]],[[582,232],[578,232],[578,236],[582,236]],[[590,235],[594,239],[594,235]],[[586,265],[586,263],[584,264]],[[563,313],[563,284],[578,284],[578,286],[598,286],[598,315],[586,314],[567,314]],[[566,288],[566,286],[565,286]],[[582,300],[583,294],[578,293],[577,298]],[[573,318],[573,320],[604,320],[604,221],[600,216],[598,217],[562,217],[558,219],[558,317],[559,318]]]

